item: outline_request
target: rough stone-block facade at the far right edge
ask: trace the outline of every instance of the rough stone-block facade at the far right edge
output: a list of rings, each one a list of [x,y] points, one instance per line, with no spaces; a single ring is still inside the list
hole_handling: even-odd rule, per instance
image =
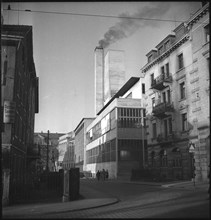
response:
[[[192,46],[193,68],[190,74],[192,105],[190,121],[193,129],[190,142],[194,144],[195,174],[197,180],[207,180],[210,164],[210,29],[209,3],[188,21]]]

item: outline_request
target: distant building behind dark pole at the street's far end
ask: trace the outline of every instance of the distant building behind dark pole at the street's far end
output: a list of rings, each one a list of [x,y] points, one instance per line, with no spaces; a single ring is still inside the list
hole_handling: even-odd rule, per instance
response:
[[[59,138],[63,133],[34,133],[34,144],[37,146],[40,159],[36,162],[36,170],[40,173],[45,171],[55,172],[59,153],[57,150]]]

